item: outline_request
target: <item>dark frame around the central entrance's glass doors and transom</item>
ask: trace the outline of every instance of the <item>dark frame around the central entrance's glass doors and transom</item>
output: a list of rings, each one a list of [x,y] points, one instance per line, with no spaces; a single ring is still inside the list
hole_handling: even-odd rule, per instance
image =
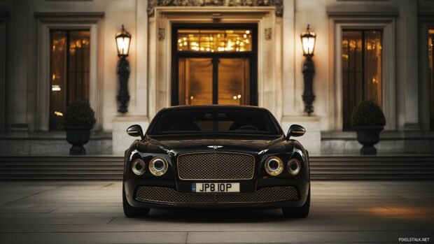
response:
[[[251,29],[252,50],[249,52],[190,52],[178,50],[177,33],[179,29]],[[211,58],[213,62],[213,104],[218,104],[218,59],[248,58],[250,62],[250,104],[258,106],[258,24],[253,23],[174,23],[172,24],[172,106],[179,105],[179,58],[203,57]]]

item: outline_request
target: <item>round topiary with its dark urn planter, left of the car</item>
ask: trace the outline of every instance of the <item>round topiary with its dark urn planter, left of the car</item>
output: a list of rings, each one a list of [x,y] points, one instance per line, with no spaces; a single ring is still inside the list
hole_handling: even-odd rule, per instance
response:
[[[72,145],[69,155],[85,155],[83,147],[90,140],[90,129],[95,123],[95,113],[87,101],[73,101],[66,106],[64,130],[66,141]]]

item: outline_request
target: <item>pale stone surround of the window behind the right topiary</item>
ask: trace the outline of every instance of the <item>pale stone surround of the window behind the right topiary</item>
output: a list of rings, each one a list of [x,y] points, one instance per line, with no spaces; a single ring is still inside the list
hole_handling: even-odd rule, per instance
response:
[[[386,15],[387,16],[387,15]],[[396,129],[395,101],[395,15],[387,17],[330,15],[330,128],[343,131],[342,31],[382,31],[381,43],[381,109],[386,117],[385,130]]]

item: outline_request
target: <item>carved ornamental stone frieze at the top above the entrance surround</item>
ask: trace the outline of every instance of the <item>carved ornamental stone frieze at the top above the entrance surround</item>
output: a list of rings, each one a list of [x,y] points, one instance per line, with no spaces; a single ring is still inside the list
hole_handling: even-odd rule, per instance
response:
[[[283,15],[283,0],[149,0],[148,16],[154,15],[154,9],[158,6],[179,6],[179,7],[203,7],[203,6],[275,6],[276,16]]]

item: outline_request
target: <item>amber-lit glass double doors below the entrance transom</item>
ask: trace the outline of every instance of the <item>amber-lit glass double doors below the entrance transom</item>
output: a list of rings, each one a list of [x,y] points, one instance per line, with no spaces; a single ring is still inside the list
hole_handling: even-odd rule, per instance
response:
[[[249,105],[248,58],[179,58],[179,105]]]

